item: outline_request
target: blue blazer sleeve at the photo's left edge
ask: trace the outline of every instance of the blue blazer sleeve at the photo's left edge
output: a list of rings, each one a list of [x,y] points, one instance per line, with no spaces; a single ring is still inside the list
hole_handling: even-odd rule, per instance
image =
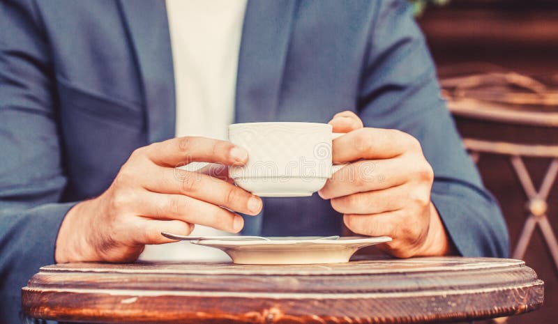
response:
[[[50,49],[33,5],[0,3],[0,322],[19,323],[20,291],[54,263],[66,177]]]

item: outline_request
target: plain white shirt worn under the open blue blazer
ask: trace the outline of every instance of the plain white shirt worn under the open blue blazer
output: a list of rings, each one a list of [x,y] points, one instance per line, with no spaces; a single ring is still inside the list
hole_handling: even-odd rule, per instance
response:
[[[236,70],[247,0],[167,0],[176,137],[227,139],[234,122]],[[197,169],[199,164],[185,169]],[[193,236],[227,235],[195,226]],[[143,260],[228,260],[224,252],[178,242],[149,245]]]

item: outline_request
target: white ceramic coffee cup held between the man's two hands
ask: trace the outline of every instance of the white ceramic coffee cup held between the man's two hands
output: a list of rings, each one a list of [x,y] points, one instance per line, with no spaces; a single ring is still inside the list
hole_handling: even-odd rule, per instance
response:
[[[229,141],[248,151],[246,165],[229,168],[229,176],[257,196],[312,196],[344,165],[331,163],[331,141],[340,135],[322,123],[229,125]]]

